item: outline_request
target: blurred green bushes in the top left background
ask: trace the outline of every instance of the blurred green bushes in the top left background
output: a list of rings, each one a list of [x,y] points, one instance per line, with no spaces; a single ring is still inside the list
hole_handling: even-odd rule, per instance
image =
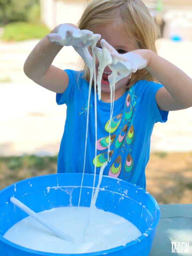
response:
[[[39,0],[0,0],[0,26],[5,41],[42,38],[49,33],[41,24]]]

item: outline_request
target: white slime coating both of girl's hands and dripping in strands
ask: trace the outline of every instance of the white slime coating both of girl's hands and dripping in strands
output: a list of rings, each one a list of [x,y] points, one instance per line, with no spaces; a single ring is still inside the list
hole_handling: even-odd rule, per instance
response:
[[[94,184],[95,185],[95,175],[96,175],[96,155],[97,155],[97,100],[96,100],[96,86],[98,91],[98,99],[101,100],[101,81],[103,71],[106,66],[111,70],[111,74],[108,75],[109,87],[110,87],[110,121],[108,124],[109,129],[109,144],[108,144],[108,161],[110,153],[110,132],[111,132],[111,119],[113,117],[113,107],[114,107],[114,94],[115,94],[115,83],[124,77],[127,77],[131,72],[136,72],[138,69],[143,69],[147,65],[147,61],[144,60],[141,55],[133,52],[128,52],[125,54],[119,54],[105,39],[101,39],[102,49],[95,47],[98,40],[101,38],[99,34],[93,34],[89,30],[80,30],[78,27],[72,24],[62,24],[59,25],[57,33],[53,33],[47,36],[51,42],[57,42],[65,46],[73,46],[75,51],[82,57],[83,61],[87,64],[90,70],[90,81],[89,81],[89,93],[88,93],[88,103],[87,103],[87,122],[86,122],[86,139],[85,139],[85,154],[84,154],[84,165],[83,165],[83,175],[81,182],[81,190],[79,195],[79,203],[81,200],[81,191],[83,176],[85,171],[85,156],[87,147],[87,132],[89,123],[89,105],[90,105],[90,94],[91,86],[94,75],[94,92],[95,92],[95,164],[94,164]],[[91,46],[92,56],[87,49]],[[97,55],[99,61],[98,75],[96,82],[96,70],[95,70],[95,54]],[[113,102],[113,106],[112,106]],[[93,200],[94,190],[92,193]],[[92,201],[91,200],[91,201]]]

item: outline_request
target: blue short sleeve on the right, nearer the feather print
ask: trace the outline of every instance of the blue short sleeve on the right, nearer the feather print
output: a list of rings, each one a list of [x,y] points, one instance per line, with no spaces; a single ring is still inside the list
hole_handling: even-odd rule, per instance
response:
[[[141,80],[140,87],[140,106],[139,111],[146,122],[149,123],[165,123],[167,121],[169,111],[159,109],[155,95],[157,91],[163,87],[160,83],[153,81]]]

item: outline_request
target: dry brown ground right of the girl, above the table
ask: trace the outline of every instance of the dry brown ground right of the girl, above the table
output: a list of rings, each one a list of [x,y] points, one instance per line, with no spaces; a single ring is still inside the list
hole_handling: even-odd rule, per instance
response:
[[[152,153],[146,190],[159,204],[192,203],[192,152]]]

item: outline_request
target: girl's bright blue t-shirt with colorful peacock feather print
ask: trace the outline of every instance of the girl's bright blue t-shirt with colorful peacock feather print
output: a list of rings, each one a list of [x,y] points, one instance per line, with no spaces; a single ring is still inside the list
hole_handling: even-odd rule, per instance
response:
[[[65,70],[69,85],[56,95],[58,105],[67,105],[65,129],[58,154],[58,173],[83,172],[87,99],[89,83],[82,73]],[[78,82],[77,82],[78,79]],[[160,110],[155,94],[162,85],[137,81],[114,102],[111,121],[110,159],[103,175],[117,177],[146,188],[145,167],[149,160],[150,137],[156,122],[166,122],[168,111]],[[85,173],[94,173],[95,112],[94,88],[91,89]],[[107,160],[110,103],[98,100],[96,173]]]

